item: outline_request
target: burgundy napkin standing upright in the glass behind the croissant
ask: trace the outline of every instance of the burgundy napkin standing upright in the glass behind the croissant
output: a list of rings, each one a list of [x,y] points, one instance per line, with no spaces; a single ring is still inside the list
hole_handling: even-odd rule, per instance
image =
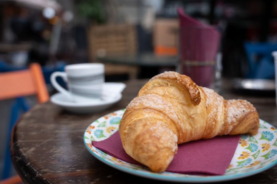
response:
[[[210,87],[220,33],[178,8],[180,39],[180,73],[188,75],[199,86]]]

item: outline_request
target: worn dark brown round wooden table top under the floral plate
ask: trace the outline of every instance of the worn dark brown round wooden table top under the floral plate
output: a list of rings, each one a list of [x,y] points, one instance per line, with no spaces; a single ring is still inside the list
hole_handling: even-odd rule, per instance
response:
[[[128,174],[102,163],[86,149],[83,133],[90,123],[123,109],[147,80],[126,82],[122,99],[101,113],[77,115],[46,102],[35,105],[15,125],[10,142],[14,167],[25,183],[163,183]],[[218,93],[225,99],[245,99],[257,109],[259,117],[277,127],[274,94],[234,91],[223,82]],[[277,183],[277,165],[250,177],[224,183]]]

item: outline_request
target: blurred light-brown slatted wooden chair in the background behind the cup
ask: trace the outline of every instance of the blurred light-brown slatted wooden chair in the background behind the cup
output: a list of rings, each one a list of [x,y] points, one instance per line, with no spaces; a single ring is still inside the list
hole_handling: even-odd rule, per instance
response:
[[[137,31],[130,24],[92,25],[87,30],[90,62],[101,62],[104,56],[135,55],[138,52]],[[105,75],[127,74],[137,79],[138,66],[105,63]]]

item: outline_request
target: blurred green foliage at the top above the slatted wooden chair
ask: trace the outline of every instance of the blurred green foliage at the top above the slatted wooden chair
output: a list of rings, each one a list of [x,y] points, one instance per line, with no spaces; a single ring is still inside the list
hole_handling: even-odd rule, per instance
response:
[[[100,0],[82,0],[77,5],[78,12],[97,23],[105,22],[105,10]]]

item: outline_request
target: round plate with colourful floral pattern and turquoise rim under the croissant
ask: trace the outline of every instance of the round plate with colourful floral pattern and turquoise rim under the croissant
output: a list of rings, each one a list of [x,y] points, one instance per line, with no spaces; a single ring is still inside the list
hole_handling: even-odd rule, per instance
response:
[[[257,174],[277,163],[277,130],[269,123],[260,119],[260,127],[256,135],[241,135],[235,154],[223,175],[200,176],[171,172],[152,172],[147,167],[137,166],[116,159],[91,145],[92,140],[104,140],[118,130],[118,125],[124,111],[125,109],[122,109],[100,117],[86,128],[83,136],[85,146],[92,155],[118,170],[163,181],[216,182]]]

